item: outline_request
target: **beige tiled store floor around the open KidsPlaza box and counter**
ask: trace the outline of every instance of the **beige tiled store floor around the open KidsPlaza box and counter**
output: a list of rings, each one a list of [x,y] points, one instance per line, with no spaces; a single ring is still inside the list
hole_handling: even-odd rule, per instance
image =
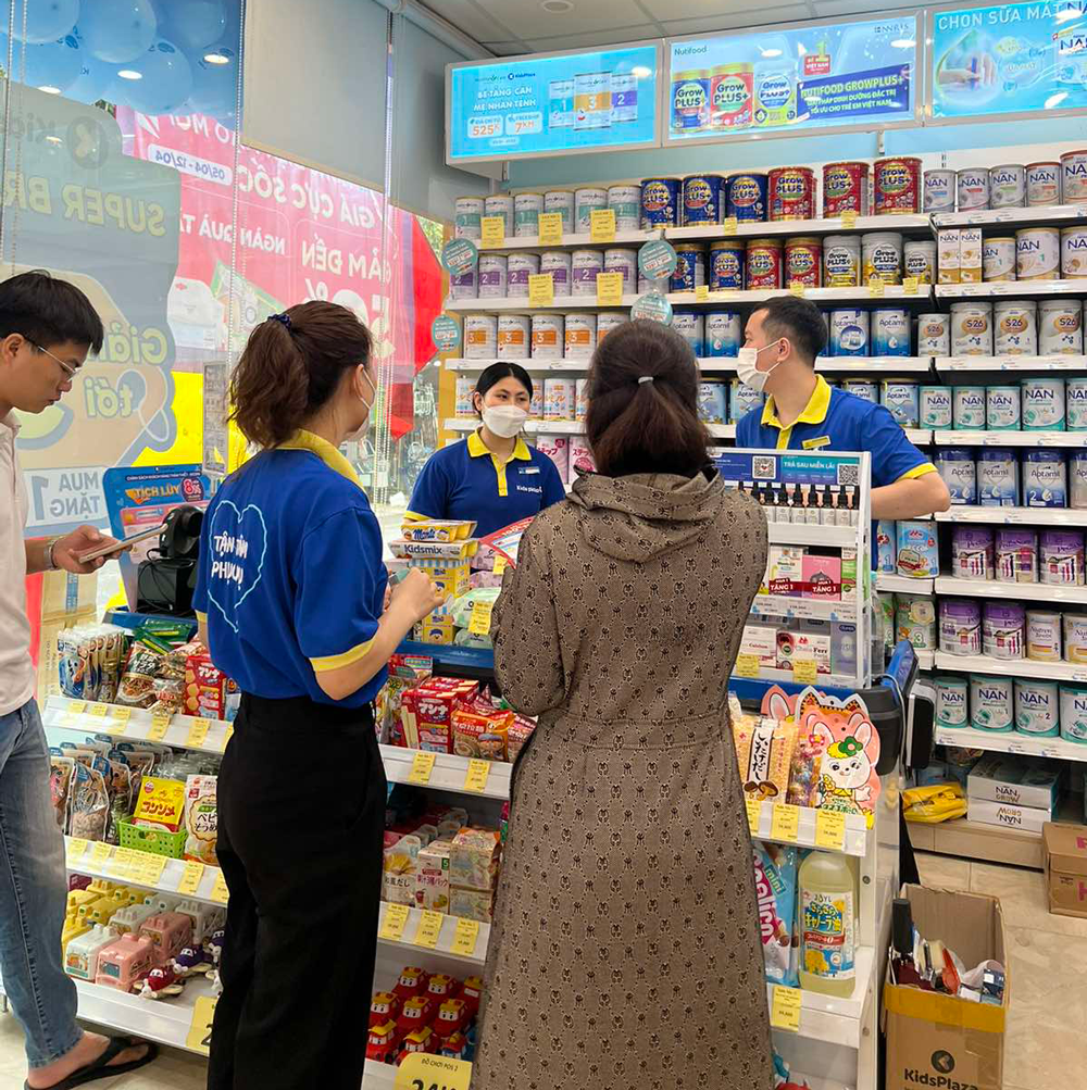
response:
[[[1011,950],[1012,1008],[1004,1052],[1004,1090],[1071,1086],[1087,1040],[1087,920],[1050,916],[1042,876],[1014,867],[920,856],[926,885],[999,896]],[[22,1086],[23,1038],[14,1018],[0,1017],[0,1086]],[[204,1090],[204,1062],[165,1051],[153,1066],[100,1090]]]

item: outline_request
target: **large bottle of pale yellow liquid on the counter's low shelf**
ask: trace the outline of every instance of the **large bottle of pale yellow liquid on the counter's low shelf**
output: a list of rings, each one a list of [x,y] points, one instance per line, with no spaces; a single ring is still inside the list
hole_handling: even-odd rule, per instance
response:
[[[800,986],[853,994],[857,958],[857,881],[845,856],[812,851],[800,864]]]

